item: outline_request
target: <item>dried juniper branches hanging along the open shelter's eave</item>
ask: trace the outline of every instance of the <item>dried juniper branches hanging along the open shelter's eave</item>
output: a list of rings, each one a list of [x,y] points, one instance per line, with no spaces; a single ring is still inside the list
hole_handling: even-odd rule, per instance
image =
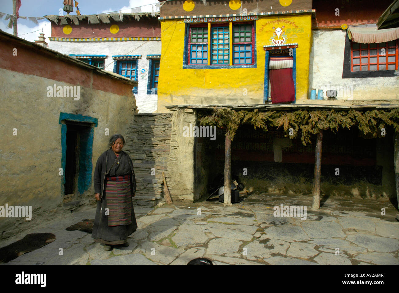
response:
[[[217,126],[227,129],[231,140],[240,125],[249,123],[254,129],[268,131],[271,127],[282,127],[284,131],[294,129],[291,139],[298,137],[303,145],[311,143],[311,136],[321,130],[338,131],[357,126],[364,135],[377,137],[379,130],[386,125],[399,131],[399,109],[357,111],[297,110],[297,111],[235,111],[228,108],[215,108],[212,115],[205,115],[200,125]]]

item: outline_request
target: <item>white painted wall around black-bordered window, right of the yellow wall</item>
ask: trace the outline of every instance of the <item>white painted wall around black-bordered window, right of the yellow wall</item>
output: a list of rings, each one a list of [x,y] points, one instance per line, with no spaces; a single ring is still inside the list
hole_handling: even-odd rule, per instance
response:
[[[344,87],[350,93],[352,92],[352,86],[354,101],[390,100],[396,103],[399,102],[399,76],[342,78],[345,30],[312,30],[312,36],[309,91],[312,87],[319,89],[330,86],[330,89],[334,89],[331,88],[334,86]],[[300,74],[300,72],[297,72],[297,74]],[[340,93],[338,92],[338,100],[351,101],[352,97],[350,95],[347,94],[346,97],[340,97],[339,95]],[[324,99],[327,99],[326,91],[324,91]]]

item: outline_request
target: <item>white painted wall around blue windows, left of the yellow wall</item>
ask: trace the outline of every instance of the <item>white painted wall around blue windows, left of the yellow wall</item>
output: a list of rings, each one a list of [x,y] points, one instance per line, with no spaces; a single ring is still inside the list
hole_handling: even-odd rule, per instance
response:
[[[113,55],[142,55],[138,59],[138,91],[134,94],[138,113],[154,113],[157,109],[158,95],[147,95],[148,65],[146,55],[161,54],[161,41],[95,41],[95,42],[61,42],[49,41],[49,49],[63,54],[107,55],[105,59],[106,71],[113,72]],[[142,69],[144,77],[140,76]]]

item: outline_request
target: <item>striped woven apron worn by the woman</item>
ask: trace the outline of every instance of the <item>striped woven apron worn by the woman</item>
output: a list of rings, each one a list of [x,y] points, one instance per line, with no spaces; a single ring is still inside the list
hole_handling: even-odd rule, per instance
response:
[[[130,175],[107,177],[105,185],[108,226],[126,226],[132,223],[132,186]]]

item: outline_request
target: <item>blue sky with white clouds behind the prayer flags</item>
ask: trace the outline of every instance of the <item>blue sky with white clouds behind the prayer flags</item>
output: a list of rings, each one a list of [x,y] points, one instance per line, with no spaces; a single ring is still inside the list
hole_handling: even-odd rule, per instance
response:
[[[142,12],[151,12],[151,6],[155,8],[158,0],[78,0],[78,7],[81,14],[99,14],[121,10],[130,12],[131,8],[140,7]],[[43,17],[45,15],[59,15],[66,13],[62,11],[63,0],[21,0],[20,16]],[[152,4],[152,5],[151,5]],[[61,12],[59,11],[61,10]],[[158,9],[159,10],[159,9]],[[12,14],[12,0],[0,0],[0,12]],[[76,15],[76,8],[73,8],[71,15]],[[0,19],[0,29],[9,34],[13,34],[13,29],[8,29],[10,20],[5,20],[6,16]],[[41,32],[45,35],[46,41],[51,36],[51,23],[44,19],[35,24],[30,20],[18,19],[18,37],[33,42],[38,40]]]

